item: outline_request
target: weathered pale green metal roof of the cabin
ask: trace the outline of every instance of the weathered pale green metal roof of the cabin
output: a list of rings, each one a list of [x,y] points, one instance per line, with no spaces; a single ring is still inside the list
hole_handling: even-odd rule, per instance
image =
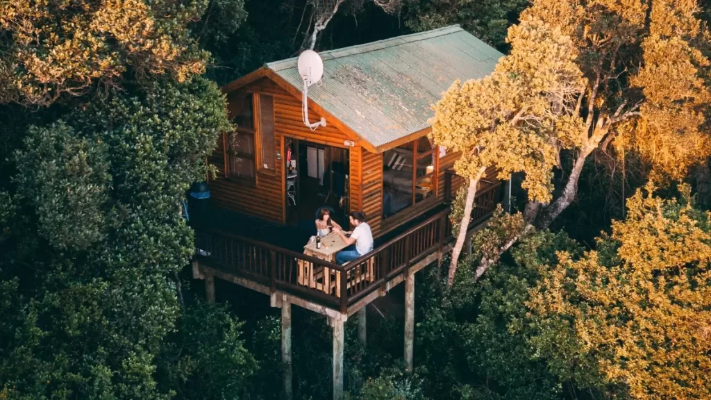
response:
[[[503,56],[458,25],[319,55],[324,77],[309,99],[374,147],[429,127],[431,106],[454,80],[483,78]],[[301,90],[296,60],[266,68]]]

